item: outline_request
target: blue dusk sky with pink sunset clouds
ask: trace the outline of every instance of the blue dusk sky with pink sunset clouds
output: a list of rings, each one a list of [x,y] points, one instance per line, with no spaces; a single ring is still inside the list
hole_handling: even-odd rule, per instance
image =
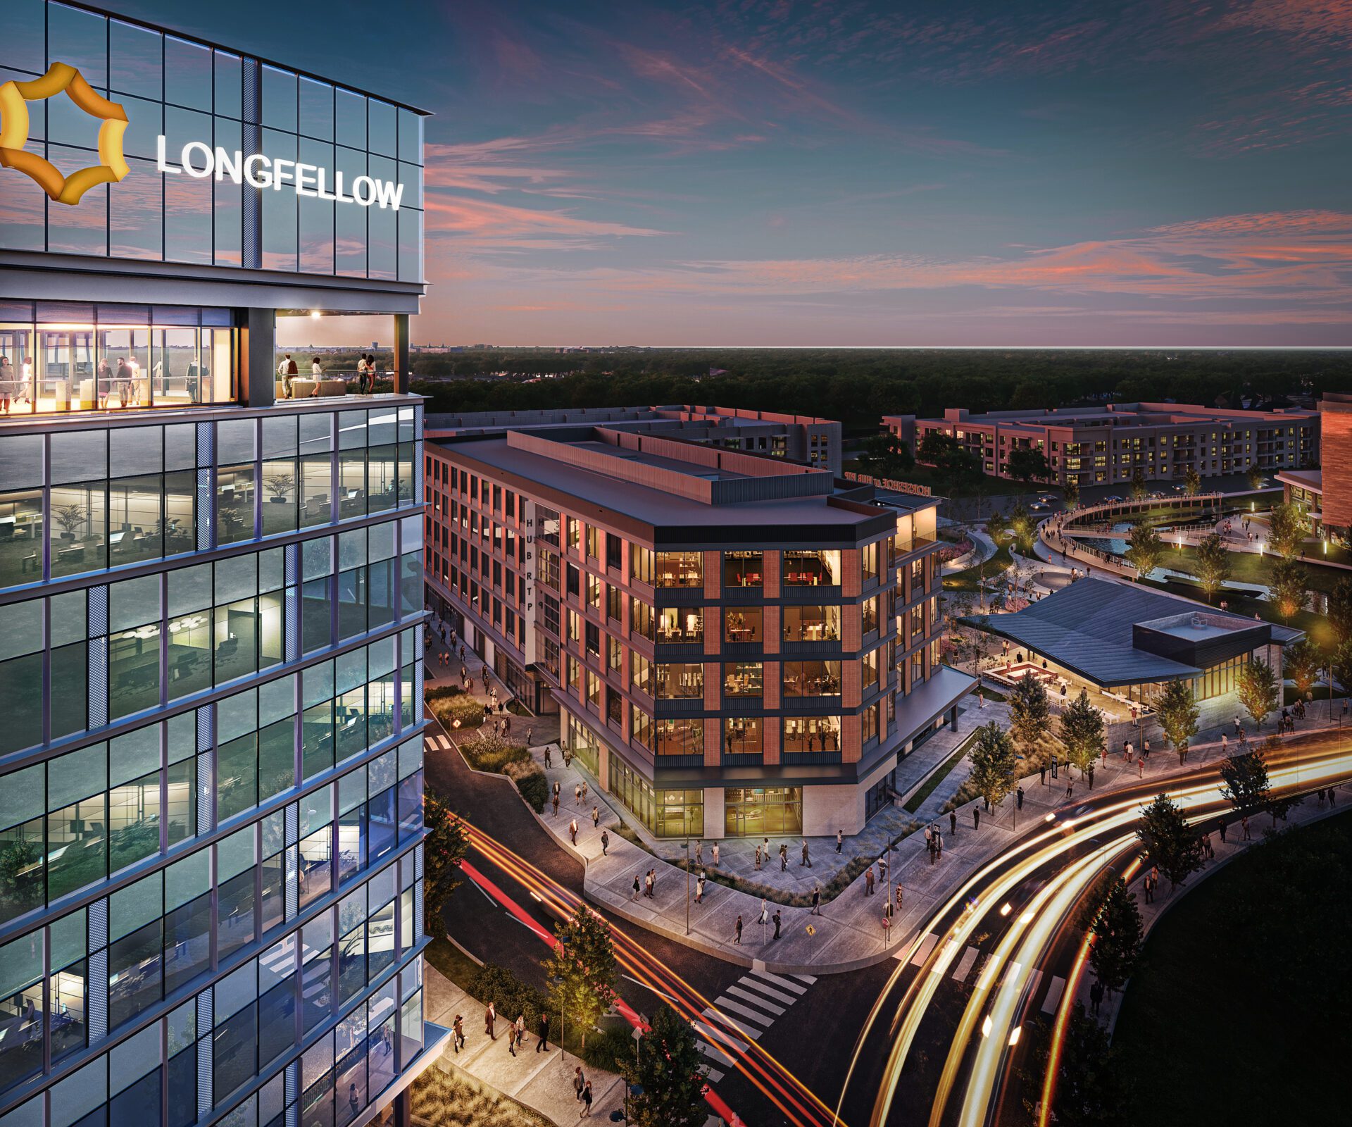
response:
[[[415,342],[1352,345],[1352,0],[112,7],[435,115]]]

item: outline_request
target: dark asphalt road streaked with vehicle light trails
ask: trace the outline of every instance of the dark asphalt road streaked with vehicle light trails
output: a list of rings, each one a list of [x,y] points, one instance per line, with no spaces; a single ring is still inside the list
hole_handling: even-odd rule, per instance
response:
[[[1314,760],[1345,751],[1348,741],[1348,733],[1338,732],[1295,737],[1283,745],[1279,758],[1274,756],[1272,766],[1290,768],[1297,754],[1306,756],[1305,783],[1314,786],[1318,785],[1310,781]],[[430,789],[446,796],[453,809],[484,835],[530,862],[549,881],[581,894],[581,863],[558,848],[529,817],[507,779],[480,775],[470,771],[457,752],[431,748],[426,756],[426,778]],[[890,1124],[929,1122],[937,1095],[944,1103],[937,1120],[941,1123],[956,1123],[967,1099],[988,1104],[987,1122],[1022,1122],[1022,1100],[1026,1096],[1036,1099],[1037,1093],[1019,1088],[1021,1050],[1006,1049],[991,1057],[988,1046],[983,1050],[983,1038],[973,1034],[973,1020],[983,1012],[994,1012],[991,1000],[996,997],[996,985],[1005,988],[1006,980],[1015,975],[1021,984],[1015,984],[1019,988],[1013,1011],[1015,1024],[1040,1015],[1051,1020],[1079,958],[1080,935],[1068,921],[1073,920],[1080,897],[1072,894],[1069,882],[1078,881],[1075,889],[1083,893],[1105,867],[1128,862],[1134,840],[1132,812],[1153,798],[1161,783],[1171,790],[1205,783],[1214,791],[1215,779],[1215,764],[1210,764],[1176,773],[1165,781],[1091,793],[1063,812],[1061,824],[1055,829],[1045,824],[1029,827],[979,871],[963,897],[930,920],[921,939],[926,935],[934,939],[914,961],[888,959],[860,971],[798,984],[791,1005],[780,998],[781,1016],[765,1019],[761,1013],[758,1024],[752,1026],[758,1034],[758,1049],[831,1112],[838,1107],[840,1122],[850,1127],[869,1123],[875,1115],[880,1116],[876,1122]],[[1291,786],[1290,775],[1287,785]],[[1215,801],[1214,810],[1205,808],[1209,819],[1214,819],[1220,805]],[[553,927],[556,916],[533,896],[534,877],[521,879],[507,867],[495,867],[480,856],[475,860],[518,909],[545,928]],[[1053,898],[1053,893],[1060,898]],[[975,906],[969,904],[973,900]],[[1009,909],[1002,913],[1006,904]],[[1032,923],[1034,916],[1036,924]],[[746,975],[744,967],[626,920],[611,917],[610,921],[704,1000],[744,1004],[737,1001],[737,996],[745,998],[748,993],[740,986]],[[448,925],[456,940],[479,958],[508,966],[544,986],[539,963],[546,948],[539,935],[473,882],[462,882],[453,896]],[[1021,966],[1010,955],[1011,944],[1026,943],[1023,934],[1037,927],[1046,928],[1046,942],[1036,959],[1025,959],[1026,965]],[[749,938],[754,938],[753,934],[754,928]],[[945,951],[953,935],[960,935],[960,943]],[[936,967],[941,969],[936,971]],[[999,975],[990,967],[998,967]],[[991,975],[995,977],[987,981]],[[780,985],[779,990],[784,993],[788,986]],[[635,977],[621,978],[619,994],[641,1013],[650,1013],[657,997],[650,985]],[[979,994],[976,1003],[973,994]],[[995,1034],[996,1038],[1003,1035],[1003,1030]],[[904,1050],[898,1059],[902,1042]],[[729,1067],[726,1061],[718,1063],[725,1074],[717,1080],[715,1089],[745,1122],[830,1122],[830,1116],[819,1111],[813,1119],[783,1103],[776,1105],[754,1077]],[[891,1096],[886,1108],[879,1104],[880,1092]]]

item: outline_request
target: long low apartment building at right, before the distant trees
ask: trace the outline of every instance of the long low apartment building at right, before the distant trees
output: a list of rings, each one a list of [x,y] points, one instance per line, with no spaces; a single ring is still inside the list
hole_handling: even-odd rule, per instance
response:
[[[1187,403],[1109,403],[1045,411],[987,411],[950,407],[944,418],[886,415],[884,429],[918,453],[930,432],[950,434],[992,478],[1010,478],[1009,456],[1041,453],[1052,482],[1103,486],[1176,482],[1195,469],[1202,478],[1276,474],[1320,460],[1318,413],[1201,407]]]

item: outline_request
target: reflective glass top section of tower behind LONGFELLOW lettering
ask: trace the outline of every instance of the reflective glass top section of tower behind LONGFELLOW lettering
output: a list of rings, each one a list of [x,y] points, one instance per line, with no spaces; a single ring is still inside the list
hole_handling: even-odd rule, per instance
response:
[[[46,0],[7,0],[0,83],[74,66],[120,106],[128,175],[91,188],[78,207],[41,189],[5,192],[0,249],[104,258],[250,267],[373,280],[422,280],[422,116],[403,106],[207,43]],[[30,104],[27,150],[66,175],[100,164],[97,123],[65,96]],[[162,175],[200,142],[404,185],[397,208],[262,192],[261,260],[246,233],[246,187]],[[34,185],[35,187],[35,185]]]

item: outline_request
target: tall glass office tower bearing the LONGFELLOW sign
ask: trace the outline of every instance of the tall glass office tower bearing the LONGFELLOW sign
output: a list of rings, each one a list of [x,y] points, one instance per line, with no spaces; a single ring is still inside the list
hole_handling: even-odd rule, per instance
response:
[[[0,84],[74,66],[124,110],[131,170],[68,204],[0,168],[0,1124],[406,1115],[443,1036],[406,394],[420,115],[85,7],[18,0],[7,35]],[[97,164],[70,106],[28,114],[26,152]],[[403,210],[157,175],[165,133],[380,157]],[[295,311],[391,317],[393,392],[279,400]]]

